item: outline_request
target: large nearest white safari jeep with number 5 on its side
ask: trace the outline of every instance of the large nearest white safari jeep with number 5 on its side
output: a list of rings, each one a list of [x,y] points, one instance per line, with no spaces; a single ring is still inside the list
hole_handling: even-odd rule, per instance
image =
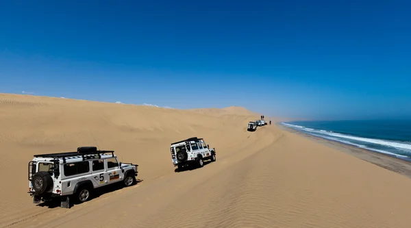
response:
[[[61,198],[61,207],[70,207],[92,198],[92,190],[123,181],[136,183],[136,164],[121,163],[114,151],[97,151],[97,147],[79,147],[77,152],[34,155],[29,162],[29,193],[33,203]]]

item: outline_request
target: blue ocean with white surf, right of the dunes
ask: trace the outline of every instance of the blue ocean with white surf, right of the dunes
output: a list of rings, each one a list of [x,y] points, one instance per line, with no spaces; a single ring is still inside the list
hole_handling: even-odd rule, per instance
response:
[[[281,124],[312,136],[411,162],[411,121],[293,121]]]

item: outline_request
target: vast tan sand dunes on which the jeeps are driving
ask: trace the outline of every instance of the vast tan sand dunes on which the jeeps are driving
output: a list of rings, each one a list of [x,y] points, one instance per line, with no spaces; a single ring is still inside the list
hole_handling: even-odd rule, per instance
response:
[[[247,131],[258,116],[0,94],[0,227],[410,227],[410,179],[275,125]],[[175,173],[169,145],[191,136],[217,161]],[[32,204],[32,155],[87,145],[143,181],[70,210]]]

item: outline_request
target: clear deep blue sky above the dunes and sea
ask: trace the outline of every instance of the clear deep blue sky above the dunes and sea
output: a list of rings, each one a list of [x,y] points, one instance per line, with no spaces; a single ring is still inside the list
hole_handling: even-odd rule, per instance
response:
[[[0,92],[411,116],[411,1],[0,1]]]

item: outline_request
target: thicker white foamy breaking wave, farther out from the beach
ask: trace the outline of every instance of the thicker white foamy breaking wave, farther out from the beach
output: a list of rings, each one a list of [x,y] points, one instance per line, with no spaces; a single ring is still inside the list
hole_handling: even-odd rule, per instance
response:
[[[371,144],[378,144],[378,145],[385,146],[385,147],[393,147],[395,149],[400,149],[400,150],[406,151],[408,153],[411,152],[411,143],[407,143],[407,142],[379,140],[379,139],[375,139],[375,138],[362,138],[362,137],[358,137],[358,136],[349,136],[349,135],[346,135],[346,134],[334,133],[332,131],[316,130],[316,129],[306,128],[306,127],[299,126],[299,125],[291,125],[291,124],[288,124],[288,123],[283,123],[283,124],[288,126],[288,127],[301,129],[303,131],[310,131],[310,133],[315,132],[316,134],[322,134],[322,135],[332,136],[332,137],[336,137],[336,138],[343,138],[343,139],[346,139],[346,140],[355,140],[355,141],[358,141],[358,142],[367,142],[367,143],[371,143]],[[324,136],[320,136],[320,137],[324,137]]]

